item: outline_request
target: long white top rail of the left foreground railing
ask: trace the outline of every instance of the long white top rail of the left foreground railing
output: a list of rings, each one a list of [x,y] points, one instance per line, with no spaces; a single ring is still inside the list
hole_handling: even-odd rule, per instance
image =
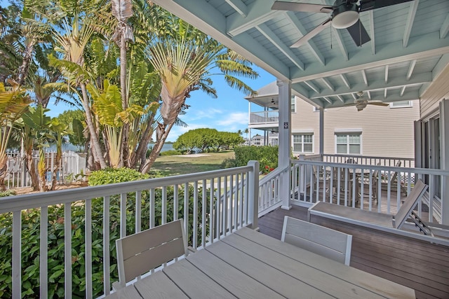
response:
[[[22,211],[24,209],[43,207],[47,205],[51,206],[53,204],[76,202],[78,200],[92,199],[95,197],[131,193],[139,190],[149,190],[152,188],[189,183],[191,181],[201,181],[203,179],[210,179],[218,176],[250,172],[251,170],[253,170],[253,167],[241,166],[229,169],[213,170],[210,172],[181,174],[177,176],[166,176],[163,178],[129,181],[102,186],[89,186],[45,193],[8,196],[0,198],[0,214],[10,211]]]

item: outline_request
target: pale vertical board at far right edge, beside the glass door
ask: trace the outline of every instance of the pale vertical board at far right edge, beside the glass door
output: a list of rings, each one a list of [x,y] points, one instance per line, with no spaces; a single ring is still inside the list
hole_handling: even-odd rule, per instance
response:
[[[440,102],[441,169],[449,170],[449,99]],[[449,177],[441,179],[442,224],[449,225]]]

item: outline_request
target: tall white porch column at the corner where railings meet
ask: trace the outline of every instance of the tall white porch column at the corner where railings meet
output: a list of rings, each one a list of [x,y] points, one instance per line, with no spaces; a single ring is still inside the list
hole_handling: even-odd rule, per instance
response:
[[[278,167],[287,168],[281,174],[279,195],[282,199],[282,209],[290,209],[290,151],[291,151],[291,83],[276,81],[279,86],[279,160]]]

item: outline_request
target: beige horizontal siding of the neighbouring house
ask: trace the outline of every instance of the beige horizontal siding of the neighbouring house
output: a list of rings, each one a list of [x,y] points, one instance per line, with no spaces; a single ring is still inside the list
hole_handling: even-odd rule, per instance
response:
[[[363,111],[355,106],[326,109],[324,112],[324,153],[335,153],[335,131],[361,130],[361,154],[384,157],[414,157],[413,121],[420,118],[420,104],[407,108],[368,105]],[[292,134],[314,132],[314,153],[319,153],[319,112],[297,98],[292,113]]]

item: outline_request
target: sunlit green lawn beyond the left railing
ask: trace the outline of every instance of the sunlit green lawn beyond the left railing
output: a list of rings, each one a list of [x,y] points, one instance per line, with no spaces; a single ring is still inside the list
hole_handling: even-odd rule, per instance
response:
[[[202,153],[200,157],[195,155],[161,155],[154,162],[152,169],[158,169],[163,176],[208,172],[220,169],[222,161],[226,158],[234,158],[234,151]]]

